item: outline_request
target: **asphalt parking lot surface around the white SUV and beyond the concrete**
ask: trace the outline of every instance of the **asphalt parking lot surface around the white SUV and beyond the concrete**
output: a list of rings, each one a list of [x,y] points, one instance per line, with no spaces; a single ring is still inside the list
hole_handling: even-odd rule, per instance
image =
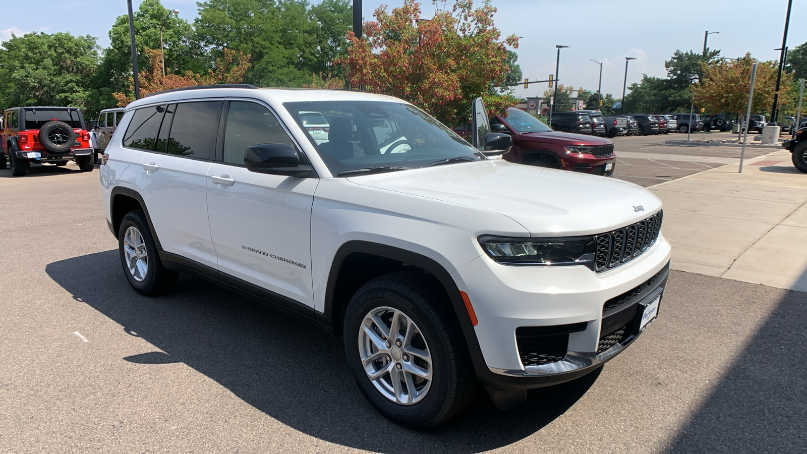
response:
[[[671,136],[617,138],[617,178],[738,153]],[[0,452],[805,452],[807,293],[672,271],[600,371],[420,432],[365,401],[341,339],[186,277],[140,296],[116,246],[97,171],[0,170]]]

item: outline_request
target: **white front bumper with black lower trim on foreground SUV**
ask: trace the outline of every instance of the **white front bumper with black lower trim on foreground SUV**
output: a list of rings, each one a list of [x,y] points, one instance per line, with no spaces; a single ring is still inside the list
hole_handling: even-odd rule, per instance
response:
[[[659,235],[642,255],[602,273],[583,266],[507,266],[487,256],[454,271],[479,319],[481,350],[470,353],[480,380],[495,389],[538,388],[573,380],[612,359],[640,334],[638,308],[663,292],[670,250]],[[525,351],[525,329],[557,334],[555,341],[562,337],[559,352],[553,344],[554,359],[545,355],[537,361],[542,364],[525,365],[536,357]]]

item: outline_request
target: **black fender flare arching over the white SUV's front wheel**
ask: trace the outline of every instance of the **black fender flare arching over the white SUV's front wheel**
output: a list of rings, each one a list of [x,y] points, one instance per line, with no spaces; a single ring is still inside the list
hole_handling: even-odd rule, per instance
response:
[[[334,301],[337,278],[339,277],[341,267],[345,262],[345,259],[347,259],[350,254],[355,253],[376,255],[385,259],[392,259],[402,263],[408,263],[415,267],[420,267],[425,271],[429,271],[429,273],[440,282],[442,287],[445,289],[445,292],[448,294],[449,301],[454,309],[454,313],[457,315],[460,327],[462,328],[462,334],[466,339],[467,346],[475,350],[479,350],[479,340],[476,338],[474,326],[470,322],[470,316],[468,315],[464,301],[462,301],[462,295],[460,295],[459,288],[457,287],[457,284],[454,282],[454,279],[451,277],[450,273],[446,271],[440,263],[437,263],[434,259],[430,259],[429,257],[409,250],[403,250],[395,246],[387,246],[361,240],[345,242],[345,244],[340,246],[339,250],[337,250],[337,254],[335,254],[333,257],[331,270],[328,273],[328,282],[325,287],[324,313],[318,313],[317,316],[322,317],[321,321],[324,324],[331,325],[334,333],[341,332],[342,321],[341,313],[337,313],[337,309],[341,308],[338,308],[338,303]]]

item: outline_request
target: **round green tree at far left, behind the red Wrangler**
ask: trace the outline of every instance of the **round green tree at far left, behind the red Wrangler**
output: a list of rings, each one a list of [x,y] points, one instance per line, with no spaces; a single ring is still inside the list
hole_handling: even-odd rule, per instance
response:
[[[0,48],[0,106],[91,107],[90,86],[98,67],[92,36],[28,33]]]

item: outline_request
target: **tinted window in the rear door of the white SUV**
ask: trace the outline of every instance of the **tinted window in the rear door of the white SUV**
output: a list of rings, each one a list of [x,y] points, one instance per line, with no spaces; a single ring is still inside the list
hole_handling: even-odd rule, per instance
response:
[[[165,112],[162,128],[166,128],[172,114],[174,120],[170,122],[171,135],[165,153],[212,161],[220,107],[220,101],[203,101],[176,104],[174,112],[169,108]],[[160,137],[163,136],[160,131]]]

